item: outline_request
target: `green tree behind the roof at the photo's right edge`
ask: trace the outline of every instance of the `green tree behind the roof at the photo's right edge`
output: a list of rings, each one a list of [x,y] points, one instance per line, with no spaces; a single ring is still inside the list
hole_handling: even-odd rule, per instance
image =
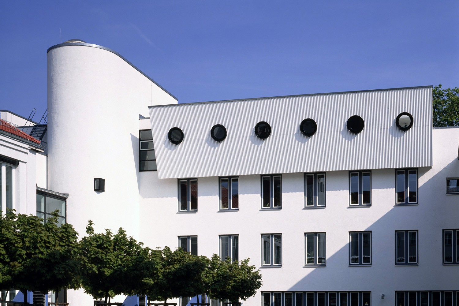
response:
[[[459,88],[442,89],[442,84],[433,88],[433,126],[459,125]]]

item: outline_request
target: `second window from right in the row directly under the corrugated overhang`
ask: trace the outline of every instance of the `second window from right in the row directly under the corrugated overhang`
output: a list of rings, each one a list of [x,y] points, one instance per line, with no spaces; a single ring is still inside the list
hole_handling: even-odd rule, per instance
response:
[[[371,172],[369,170],[349,172],[349,205],[371,205]]]

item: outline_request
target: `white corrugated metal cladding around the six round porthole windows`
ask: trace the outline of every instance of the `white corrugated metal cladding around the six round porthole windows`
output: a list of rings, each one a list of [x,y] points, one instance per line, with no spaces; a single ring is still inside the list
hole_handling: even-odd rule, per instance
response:
[[[159,178],[195,178],[244,174],[322,172],[432,165],[432,88],[302,95],[150,106]],[[414,124],[406,132],[395,125],[401,112]],[[347,119],[358,115],[365,127],[355,135]],[[317,122],[317,132],[304,136],[303,119]],[[268,139],[254,134],[257,122],[269,122]],[[221,143],[210,136],[223,124]],[[185,134],[169,142],[170,128]]]

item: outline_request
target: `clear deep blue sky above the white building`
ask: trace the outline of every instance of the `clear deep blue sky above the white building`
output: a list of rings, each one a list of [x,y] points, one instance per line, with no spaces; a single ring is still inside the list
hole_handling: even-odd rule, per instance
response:
[[[179,102],[459,86],[459,1],[0,1],[0,109],[46,109],[46,50],[118,51]],[[36,118],[34,118],[36,119]]]

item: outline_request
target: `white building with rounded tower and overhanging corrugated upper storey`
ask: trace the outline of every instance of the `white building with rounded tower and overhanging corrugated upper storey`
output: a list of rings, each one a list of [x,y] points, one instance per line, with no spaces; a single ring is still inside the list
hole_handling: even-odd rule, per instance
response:
[[[177,104],[72,40],[48,50],[48,114],[47,146],[1,139],[19,212],[36,184],[80,235],[250,257],[247,306],[459,305],[459,128],[431,128],[431,86]]]

